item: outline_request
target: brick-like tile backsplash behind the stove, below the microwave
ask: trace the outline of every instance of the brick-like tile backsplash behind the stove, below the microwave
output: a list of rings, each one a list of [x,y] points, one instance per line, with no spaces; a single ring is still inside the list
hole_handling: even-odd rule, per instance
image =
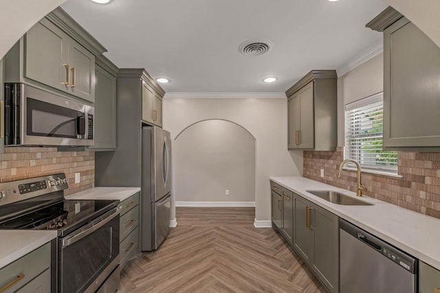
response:
[[[80,172],[80,183],[75,173]],[[58,152],[56,148],[5,148],[0,154],[0,182],[65,173],[69,180],[67,196],[94,186],[94,152]]]

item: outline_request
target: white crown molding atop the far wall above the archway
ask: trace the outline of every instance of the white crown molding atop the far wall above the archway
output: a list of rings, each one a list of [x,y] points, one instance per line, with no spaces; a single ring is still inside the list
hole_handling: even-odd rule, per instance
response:
[[[164,99],[175,99],[175,98],[181,98],[184,97],[186,99],[228,99],[228,98],[235,98],[235,99],[265,99],[265,98],[272,98],[272,99],[285,99],[286,95],[283,92],[249,92],[249,93],[166,93],[164,96]]]

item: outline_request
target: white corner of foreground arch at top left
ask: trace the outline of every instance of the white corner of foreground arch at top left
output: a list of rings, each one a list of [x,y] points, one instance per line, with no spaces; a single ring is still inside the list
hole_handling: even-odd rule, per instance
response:
[[[66,0],[0,0],[0,59],[46,14]]]

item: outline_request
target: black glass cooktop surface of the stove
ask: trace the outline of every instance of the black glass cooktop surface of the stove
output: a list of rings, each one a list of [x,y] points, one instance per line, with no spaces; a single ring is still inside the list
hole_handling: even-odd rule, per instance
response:
[[[66,235],[118,206],[118,200],[63,200],[0,222],[0,229],[58,230]]]

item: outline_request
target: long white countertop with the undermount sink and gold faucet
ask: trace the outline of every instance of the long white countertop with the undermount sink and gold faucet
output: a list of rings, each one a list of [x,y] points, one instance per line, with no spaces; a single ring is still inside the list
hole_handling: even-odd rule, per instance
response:
[[[333,204],[306,190],[332,190],[356,197],[355,193],[304,177],[270,177],[270,180],[440,270],[439,219],[366,196],[358,199],[373,206]]]

